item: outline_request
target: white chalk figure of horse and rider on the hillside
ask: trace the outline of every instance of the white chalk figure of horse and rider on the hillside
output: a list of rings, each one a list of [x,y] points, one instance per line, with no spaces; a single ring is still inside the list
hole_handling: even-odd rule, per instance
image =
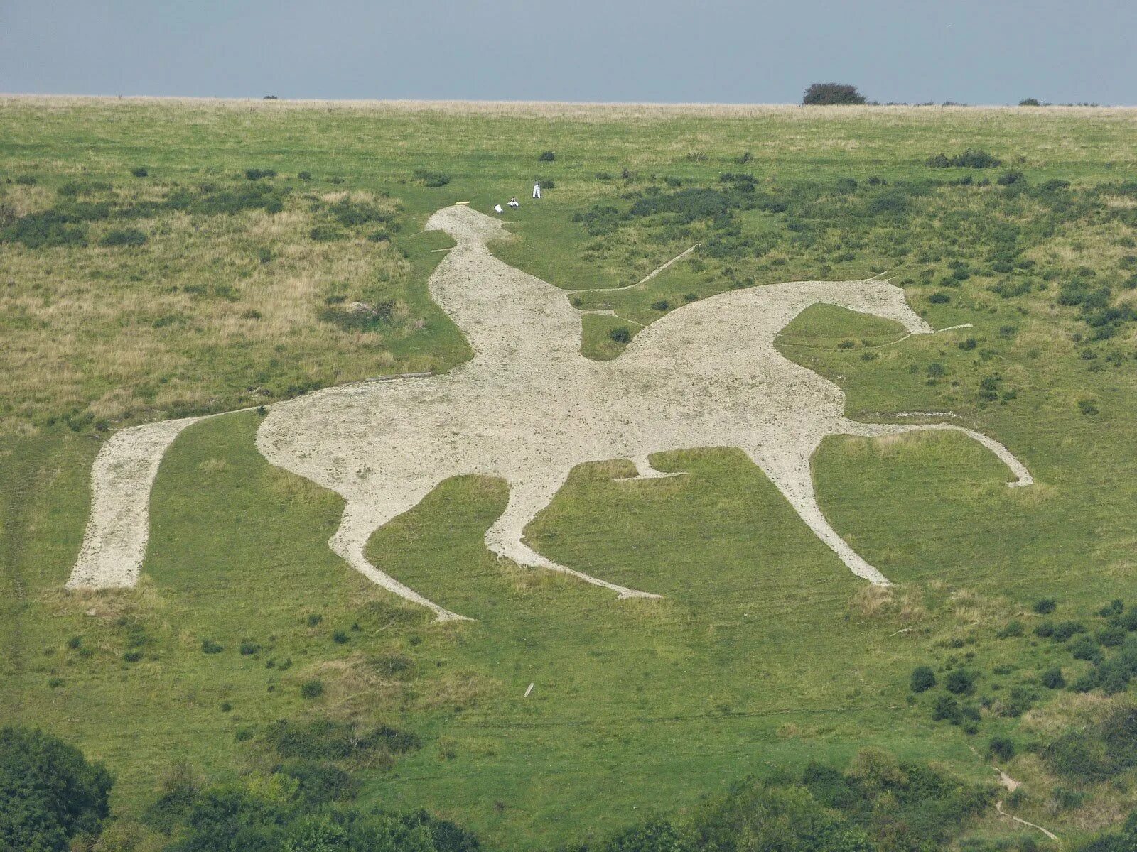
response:
[[[508,483],[505,511],[485,534],[497,554],[565,571],[616,592],[654,596],[557,565],[534,552],[524,529],[574,466],[630,459],[639,476],[662,476],[650,456],[737,446],[778,486],[848,568],[888,580],[829,525],[818,506],[810,459],[827,435],[891,435],[954,429],[989,448],[1029,485],[1026,467],[1001,443],[953,424],[865,424],[845,417],[841,390],[774,349],[797,314],[825,302],[932,328],[885,281],[796,282],[737,290],[672,311],[640,332],[614,361],[580,354],[581,315],[565,291],[495,258],[507,236],[497,219],[467,207],[435,212],[428,229],[457,243],[430,279],[431,295],[465,333],[472,360],[423,378],[332,387],[272,406],[257,433],[269,462],[347,501],[331,548],[355,569],[439,619],[462,618],[372,565],[372,534],[462,474]],[[72,587],[133,585],[146,554],[150,486],[163,453],[201,418],[124,429],[92,473],[93,506]]]

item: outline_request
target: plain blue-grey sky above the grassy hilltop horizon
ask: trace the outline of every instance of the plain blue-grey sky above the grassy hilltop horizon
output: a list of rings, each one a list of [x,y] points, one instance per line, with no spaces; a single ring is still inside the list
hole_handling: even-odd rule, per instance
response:
[[[1137,0],[0,0],[0,92],[1137,103]]]

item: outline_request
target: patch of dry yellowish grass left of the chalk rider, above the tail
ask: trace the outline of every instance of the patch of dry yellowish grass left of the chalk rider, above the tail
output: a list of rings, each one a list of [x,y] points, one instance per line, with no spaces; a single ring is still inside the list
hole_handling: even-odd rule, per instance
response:
[[[157,194],[143,191],[132,200]],[[397,209],[390,199],[351,198]],[[15,186],[0,200],[26,214],[49,208],[52,195]],[[256,404],[282,391],[265,385],[281,373],[272,364],[284,353],[294,384],[359,378],[360,364],[370,373],[393,365],[395,357],[376,346],[383,337],[318,319],[332,294],[348,302],[364,293],[393,299],[388,337],[418,327],[401,299],[410,278],[401,253],[389,242],[313,241],[312,201],[298,194],[276,214],[175,212],[126,224],[146,232],[148,242],[99,247],[107,232],[122,227],[106,220],[89,226],[88,247],[5,247],[0,311],[20,321],[0,350],[0,375],[15,408],[0,428],[81,411],[116,421],[180,407]],[[267,260],[262,250],[271,252]],[[242,390],[234,393],[234,384]]]

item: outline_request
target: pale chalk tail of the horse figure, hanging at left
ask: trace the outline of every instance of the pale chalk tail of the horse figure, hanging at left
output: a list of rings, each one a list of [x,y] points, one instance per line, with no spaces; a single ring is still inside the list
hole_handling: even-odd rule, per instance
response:
[[[150,537],[150,488],[161,457],[182,429],[202,419],[132,426],[102,445],[91,468],[91,516],[67,588],[138,583]]]

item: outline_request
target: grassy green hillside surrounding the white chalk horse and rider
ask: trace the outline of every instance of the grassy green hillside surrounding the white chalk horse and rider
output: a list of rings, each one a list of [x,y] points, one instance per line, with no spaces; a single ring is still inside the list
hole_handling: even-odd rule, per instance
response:
[[[927,165],[965,149],[1001,164]],[[532,202],[537,178],[554,186]],[[956,433],[827,440],[820,500],[898,584],[878,594],[738,450],[656,457],[687,476],[655,481],[587,465],[528,537],[664,595],[617,602],[496,561],[482,535],[505,486],[459,477],[370,543],[476,619],[432,624],[332,553],[340,499],[271,467],[244,412],[166,456],[136,590],[63,590],[109,432],[460,364],[426,294],[448,241],[422,225],[509,195],[516,239],[496,253],[566,290],[634,283],[702,243],[644,287],[576,296],[617,315],[586,318],[590,357],[619,357],[614,327],[732,287],[888,274],[936,328],[973,327],[878,349],[898,326],[819,306],[780,350],[839,384],[849,416],[953,412],[1037,485],[1009,490]],[[124,228],[146,242],[107,240]],[[0,722],[106,761],[127,817],[179,761],[216,779],[262,766],[277,719],[392,725],[422,746],[355,767],[360,801],[425,807],[503,850],[869,745],[989,784],[1005,735],[1028,792],[1013,812],[1085,836],[1132,807],[1134,772],[1074,783],[1028,746],[1127,693],[1039,687],[1092,662],[1035,637],[1031,604],[1053,596],[1092,630],[1112,599],[1137,605],[1135,237],[1137,110],[0,99]],[[388,307],[347,326],[357,300]],[[1015,619],[1026,635],[997,638]],[[979,673],[977,733],[911,696],[924,663]],[[305,699],[312,679],[325,691]],[[1031,710],[1001,711],[1014,688]],[[1053,807],[1070,786],[1085,797]],[[994,812],[970,828],[1020,829]]]

